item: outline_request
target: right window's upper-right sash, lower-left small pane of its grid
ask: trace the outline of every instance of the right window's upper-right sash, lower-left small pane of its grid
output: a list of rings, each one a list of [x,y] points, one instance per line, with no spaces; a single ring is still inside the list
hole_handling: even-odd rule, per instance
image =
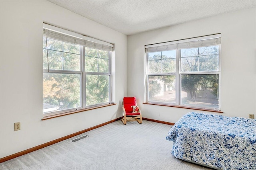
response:
[[[180,65],[182,72],[198,71],[198,57],[183,57]]]

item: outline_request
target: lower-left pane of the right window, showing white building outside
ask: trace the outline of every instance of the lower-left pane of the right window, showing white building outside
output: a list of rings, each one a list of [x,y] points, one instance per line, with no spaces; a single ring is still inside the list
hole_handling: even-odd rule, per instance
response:
[[[175,104],[175,75],[148,76],[148,101]]]

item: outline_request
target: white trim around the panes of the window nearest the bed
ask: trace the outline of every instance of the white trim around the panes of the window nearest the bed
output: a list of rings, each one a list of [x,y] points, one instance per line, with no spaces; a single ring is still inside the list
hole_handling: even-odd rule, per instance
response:
[[[176,72],[170,72],[170,73],[149,73],[148,74],[148,48],[152,48],[153,50],[158,50],[158,47],[164,47],[166,46],[165,50],[168,49],[168,45],[173,45],[175,43],[190,43],[192,40],[200,41],[200,39],[214,39],[214,37],[218,40],[218,47],[219,47],[219,57],[218,57],[218,70],[216,71],[197,71],[197,72],[182,72],[181,71],[181,49],[190,49],[190,48],[200,48],[200,47],[208,47],[208,46],[216,46],[216,45],[202,45],[198,47],[187,47],[187,48],[179,48],[177,45],[176,48]],[[217,38],[218,37],[218,38]],[[220,43],[220,37],[221,34],[214,34],[210,36],[203,36],[203,37],[196,37],[192,39],[182,39],[178,41],[170,41],[170,42],[165,42],[165,43],[157,43],[157,44],[152,44],[152,45],[145,45],[145,53],[146,53],[146,102],[144,104],[153,104],[153,105],[159,105],[159,106],[171,106],[171,107],[181,107],[181,108],[193,108],[193,109],[199,109],[199,110],[206,110],[206,111],[216,111],[216,112],[221,112],[221,43]],[[171,51],[174,49],[169,49],[168,51]],[[154,53],[156,51],[152,51],[151,53]],[[162,52],[162,51],[159,51]],[[161,59],[162,60],[162,59]],[[188,74],[200,74],[200,75],[206,75],[206,74],[218,74],[218,108],[214,107],[200,107],[200,106],[190,106],[190,105],[184,105],[182,104],[181,100],[181,89],[182,89],[182,84],[181,84],[181,75],[188,75]],[[149,84],[148,84],[148,77],[149,76],[163,76],[163,75],[175,75],[176,76],[176,104],[172,103],[164,103],[164,102],[155,102],[155,101],[149,101]],[[177,92],[178,91],[178,92]]]

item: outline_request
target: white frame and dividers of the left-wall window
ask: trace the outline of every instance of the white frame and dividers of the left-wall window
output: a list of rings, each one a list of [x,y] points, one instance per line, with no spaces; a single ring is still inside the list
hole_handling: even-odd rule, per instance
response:
[[[64,74],[80,74],[80,106],[81,107],[75,107],[71,109],[64,109],[60,111],[49,111],[43,113],[44,117],[45,116],[50,116],[50,115],[56,115],[60,113],[67,113],[70,111],[76,111],[80,109],[86,109],[90,107],[96,107],[96,106],[103,106],[106,104],[112,104],[112,73],[111,73],[111,57],[112,57],[112,51],[114,50],[114,45],[94,39],[91,37],[87,37],[72,31],[68,31],[66,29],[62,29],[59,27],[55,27],[53,25],[48,25],[46,23],[43,24],[43,32],[44,36],[47,37],[46,30],[51,32],[51,33],[56,33],[56,35],[51,35],[49,36],[50,39],[55,39],[57,41],[62,41],[62,42],[67,42],[67,43],[74,43],[76,45],[80,45],[80,71],[69,71],[69,70],[50,70],[49,66],[48,69],[43,69],[43,72],[48,72],[48,73],[64,73]],[[60,34],[60,35],[58,35]],[[64,39],[62,39],[64,37]],[[65,39],[66,38],[66,39]],[[72,42],[74,41],[74,42]],[[98,50],[104,50],[108,51],[108,72],[86,72],[85,71],[85,48],[93,48],[93,49],[98,49]],[[48,50],[48,47],[46,47]],[[63,49],[62,49],[63,52]],[[90,105],[86,106],[86,75],[107,75],[109,76],[109,88],[108,88],[108,98],[109,102],[106,103],[100,103],[100,104],[95,104],[95,105]]]

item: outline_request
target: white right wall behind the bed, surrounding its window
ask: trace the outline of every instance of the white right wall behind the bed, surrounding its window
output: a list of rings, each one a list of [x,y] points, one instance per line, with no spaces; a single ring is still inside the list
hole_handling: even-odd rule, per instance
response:
[[[238,117],[256,114],[256,8],[250,8],[128,36],[128,96],[138,98],[143,117],[175,123],[193,111],[142,104],[146,100],[144,45],[215,33],[222,35],[221,109],[224,113],[219,114]]]

